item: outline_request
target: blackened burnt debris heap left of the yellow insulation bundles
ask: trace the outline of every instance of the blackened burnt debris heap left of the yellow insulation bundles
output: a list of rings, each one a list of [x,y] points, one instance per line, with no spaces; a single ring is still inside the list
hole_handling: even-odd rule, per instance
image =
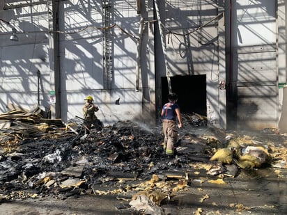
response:
[[[6,199],[93,193],[95,184],[150,179],[153,173],[185,168],[190,162],[183,150],[173,159],[166,157],[160,127],[125,121],[84,136],[80,126],[74,132],[55,125],[34,130],[39,125],[34,121],[33,136],[19,136],[11,132],[18,125],[13,121],[1,129],[2,136],[10,137],[1,142],[0,155],[0,194]]]

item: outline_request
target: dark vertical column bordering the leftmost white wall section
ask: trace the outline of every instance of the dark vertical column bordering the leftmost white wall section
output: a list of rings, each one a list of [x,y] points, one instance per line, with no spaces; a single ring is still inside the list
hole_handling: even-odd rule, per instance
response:
[[[53,10],[53,42],[54,42],[54,83],[55,83],[55,117],[61,118],[61,71],[59,41],[59,0],[52,1]]]

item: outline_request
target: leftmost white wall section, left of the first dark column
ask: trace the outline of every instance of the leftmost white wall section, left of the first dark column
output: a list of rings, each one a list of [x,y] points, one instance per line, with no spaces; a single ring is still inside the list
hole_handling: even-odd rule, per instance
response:
[[[9,24],[0,22],[0,110],[6,111],[8,103],[29,108],[39,102],[47,107],[51,81],[48,6],[25,4],[20,8],[16,3],[24,2],[5,3],[0,18]],[[18,42],[9,40],[13,27]]]

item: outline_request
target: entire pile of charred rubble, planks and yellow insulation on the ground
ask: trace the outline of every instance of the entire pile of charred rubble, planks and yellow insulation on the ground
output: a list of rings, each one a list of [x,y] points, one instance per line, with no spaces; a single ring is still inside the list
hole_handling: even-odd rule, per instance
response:
[[[65,199],[107,193],[127,198],[129,193],[128,200],[146,196],[146,201],[160,205],[162,200],[189,186],[189,172],[199,163],[210,177],[236,177],[246,162],[234,157],[231,140],[236,142],[237,152],[249,155],[248,146],[263,145],[265,160],[257,166],[248,161],[248,168],[271,165],[275,158],[277,164],[286,168],[286,154],[278,154],[277,148],[247,136],[225,138],[226,134],[218,131],[210,134],[210,129],[204,134],[195,134],[190,127],[192,122],[187,120],[185,130],[180,131],[176,157],[169,159],[161,145],[160,127],[117,122],[101,131],[92,129],[91,134],[83,138],[81,123],[77,121],[64,125],[59,120],[43,119],[38,108],[25,111],[13,105],[10,109],[0,115],[2,123],[5,122],[0,129],[2,200],[44,196]],[[222,153],[224,148],[231,153],[230,159]],[[137,205],[131,202],[133,204]]]

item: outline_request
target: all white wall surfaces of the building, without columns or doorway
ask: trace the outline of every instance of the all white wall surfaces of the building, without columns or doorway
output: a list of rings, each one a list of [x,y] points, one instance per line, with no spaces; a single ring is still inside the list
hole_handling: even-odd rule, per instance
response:
[[[47,4],[37,4],[37,0],[20,6],[27,1],[6,1],[5,10],[0,8],[0,18],[15,26],[19,42],[9,40],[11,28],[0,22],[0,112],[6,111],[6,104],[15,103],[31,108],[38,102],[40,89],[40,106],[49,109],[49,93],[54,90],[54,56],[52,42],[52,17],[49,12],[52,1]],[[63,121],[75,116],[82,116],[82,105],[87,95],[92,95],[95,103],[100,106],[99,118],[105,124],[117,120],[134,120],[155,122],[157,112],[161,108],[160,89],[162,77],[166,76],[166,62],[162,56],[157,20],[155,20],[153,0],[141,0],[141,14],[137,13],[137,1],[117,0],[112,2],[111,24],[121,26],[111,29],[113,41],[112,74],[110,89],[104,89],[104,74],[102,70],[102,6],[101,1],[61,1],[59,8],[60,27],[60,68],[61,68],[61,117]],[[219,1],[220,2],[220,1]],[[173,75],[206,75],[207,109],[209,122],[218,126],[225,100],[218,84],[225,78],[224,70],[224,35],[225,24],[220,30],[217,22],[211,22],[201,31],[194,31],[199,26],[209,22],[219,14],[217,1],[205,0],[169,0],[157,1],[164,24],[167,62]],[[244,51],[253,45],[274,44],[277,31],[280,32],[279,50],[280,62],[286,61],[284,38],[285,17],[279,13],[280,22],[276,26],[274,1],[234,1],[234,21],[237,28],[233,31],[235,49]],[[279,8],[284,8],[283,1],[278,1]],[[224,2],[225,3],[225,2]],[[221,7],[224,8],[224,3]],[[18,6],[17,6],[18,4]],[[256,5],[256,7],[252,7]],[[17,7],[16,7],[17,6]],[[245,10],[244,8],[248,8]],[[228,8],[226,8],[228,10]],[[280,10],[281,11],[281,10]],[[139,90],[136,87],[137,40],[139,36],[139,21],[141,17],[146,22],[143,29],[141,53],[141,73]],[[225,17],[226,18],[226,17]],[[223,19],[217,20],[223,22]],[[226,20],[225,20],[226,21]],[[279,29],[279,30],[278,30]],[[180,35],[169,35],[173,31]],[[186,33],[192,33],[186,35]],[[222,33],[223,34],[223,33]],[[230,35],[226,33],[228,37]],[[220,44],[220,47],[219,47]],[[226,45],[228,47],[228,44]],[[269,50],[269,49],[268,49]],[[219,54],[220,51],[220,54]],[[235,50],[238,51],[238,50]],[[237,52],[233,53],[236,54]],[[219,57],[219,55],[221,57]],[[275,58],[277,55],[273,55]],[[279,80],[286,80],[286,67],[276,58],[267,61],[263,53],[249,56],[241,55],[233,62],[233,69],[244,70],[254,65],[265,63],[264,75],[256,70],[251,81],[262,77],[263,81],[277,80],[277,67],[281,71]],[[252,63],[247,63],[246,59]],[[259,59],[259,60],[258,60]],[[228,60],[228,59],[227,59]],[[273,67],[274,70],[273,70]],[[272,71],[270,72],[270,69]],[[37,71],[40,71],[38,85]],[[226,72],[229,72],[227,69]],[[247,79],[248,73],[240,73],[236,81]],[[232,83],[233,83],[232,82]],[[236,85],[236,84],[235,84]],[[241,88],[242,89],[242,88]],[[242,95],[254,92],[253,88],[241,90]],[[268,91],[270,90],[270,91]],[[273,105],[268,110],[259,109],[257,116],[271,114],[273,124],[277,116],[277,86],[264,88],[262,93],[269,92]],[[258,95],[259,97],[260,95]],[[120,98],[120,105],[116,99]],[[257,98],[253,101],[258,101]],[[263,100],[264,102],[264,100]],[[261,102],[260,104],[264,104]],[[270,103],[271,104],[271,103]],[[242,111],[246,106],[242,106]],[[276,109],[276,110],[274,110]],[[266,112],[267,111],[267,112]],[[243,113],[243,112],[242,112]],[[242,116],[241,113],[238,116]],[[222,122],[224,119],[222,119]]]

